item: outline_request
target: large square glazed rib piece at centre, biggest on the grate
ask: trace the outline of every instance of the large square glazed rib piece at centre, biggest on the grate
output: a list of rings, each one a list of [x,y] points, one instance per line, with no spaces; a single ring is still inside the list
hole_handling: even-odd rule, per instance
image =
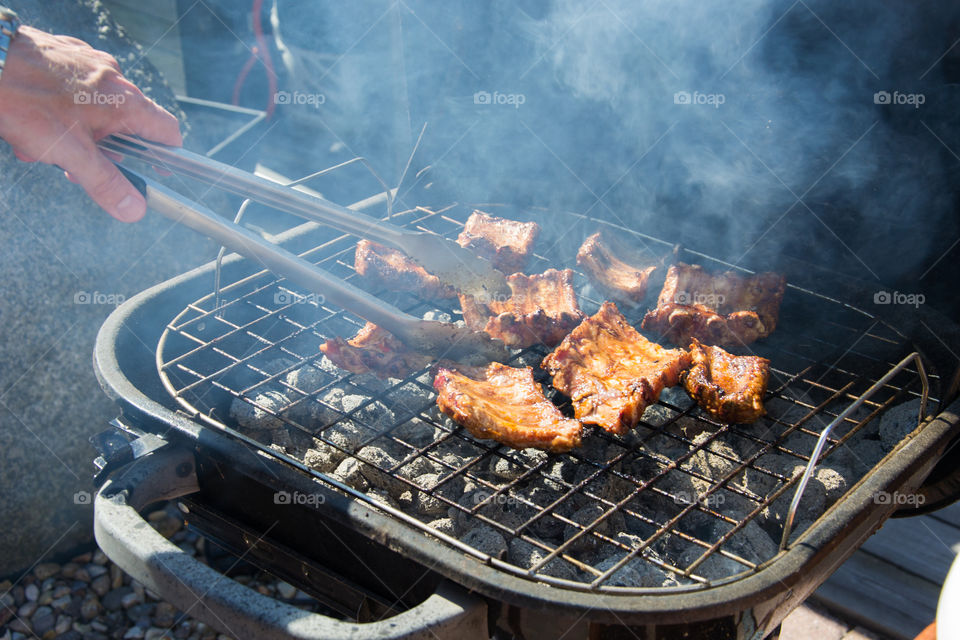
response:
[[[555,389],[570,396],[582,422],[625,433],[664,387],[680,380],[690,364],[683,349],[664,349],[637,333],[617,305],[605,302],[580,323],[541,367]]]

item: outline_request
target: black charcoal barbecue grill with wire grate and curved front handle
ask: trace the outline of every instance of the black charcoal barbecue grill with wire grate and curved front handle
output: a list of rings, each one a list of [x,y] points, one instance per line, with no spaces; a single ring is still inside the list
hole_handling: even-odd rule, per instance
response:
[[[454,238],[473,208],[424,205],[391,221]],[[601,228],[738,268],[610,221],[480,208],[550,216],[530,273],[575,267],[576,246]],[[307,223],[276,240],[356,281],[354,237]],[[157,285],[97,339],[97,375],[120,407],[96,439],[97,540],[137,580],[240,637],[775,635],[887,517],[952,499],[949,461],[931,472],[960,431],[949,355],[960,334],[929,309],[880,317],[873,291],[815,266],[758,265],[788,280],[777,330],[751,345],[771,361],[767,417],[724,425],[667,390],[627,436],[595,429],[550,455],[471,437],[436,409],[428,371],[381,381],[332,367],[318,346],[362,320],[248,260]],[[592,313],[603,300],[576,278]],[[376,293],[456,317],[455,301]],[[634,325],[645,308],[625,310]],[[507,364],[536,370],[546,353]],[[896,415],[907,416],[899,431]],[[180,553],[137,515],[174,498],[191,526],[334,615]]]

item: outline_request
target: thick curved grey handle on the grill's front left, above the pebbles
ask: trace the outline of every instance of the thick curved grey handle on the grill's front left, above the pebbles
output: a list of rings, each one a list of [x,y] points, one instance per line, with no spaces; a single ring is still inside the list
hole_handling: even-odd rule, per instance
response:
[[[118,471],[94,501],[94,534],[104,553],[185,614],[234,638],[489,638],[486,603],[452,583],[442,583],[409,611],[358,624],[297,609],[217,573],[161,536],[137,511],[198,490],[193,454],[167,446]]]

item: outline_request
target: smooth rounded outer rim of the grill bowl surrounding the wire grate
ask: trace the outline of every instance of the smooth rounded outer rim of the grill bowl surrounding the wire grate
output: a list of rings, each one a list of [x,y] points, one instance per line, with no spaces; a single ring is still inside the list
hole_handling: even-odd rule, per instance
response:
[[[298,237],[306,235],[306,232],[312,230],[315,226],[308,223],[296,227],[281,234],[278,241],[296,241]],[[247,273],[258,271],[258,269],[251,268],[244,263],[245,261],[241,258],[230,256],[224,261],[224,268],[231,271],[237,269]],[[148,396],[141,387],[149,386],[151,381],[141,379],[138,381],[139,384],[135,384],[130,380],[124,372],[117,351],[122,334],[134,333],[136,335],[131,327],[141,325],[139,319],[134,321],[134,316],[137,316],[138,313],[142,314],[145,309],[162,306],[162,300],[167,297],[175,298],[182,308],[185,299],[192,299],[188,293],[190,285],[199,284],[199,286],[206,287],[208,290],[210,280],[207,278],[212,277],[213,271],[214,263],[208,263],[181,276],[155,285],[131,297],[114,310],[98,333],[94,363],[98,380],[107,395],[120,404],[123,413],[132,418],[135,424],[160,436],[170,436],[171,440],[186,444],[195,450],[199,447],[200,439],[203,437],[205,440],[204,447],[213,445],[218,451],[233,452],[239,455],[241,451],[246,450],[246,445],[232,442],[225,434],[217,433],[215,430],[164,406],[157,399]],[[198,282],[201,279],[203,280],[202,284]],[[928,310],[923,309],[921,312],[927,314]],[[928,320],[930,319],[928,318]],[[934,321],[930,320],[930,322]],[[166,322],[160,324],[165,326]],[[939,325],[940,323],[934,322],[934,324]],[[139,337],[137,339],[142,341]],[[147,345],[150,343],[149,340],[142,342],[142,348],[149,350]],[[157,340],[153,339],[152,344],[156,343]],[[130,357],[130,354],[126,355]],[[152,362],[150,365],[147,367],[147,371],[151,372],[155,378],[152,382],[160,391],[163,391],[159,384],[156,369],[152,367]],[[168,400],[174,402],[172,398]],[[853,536],[854,533],[862,529],[866,532],[862,536],[862,538],[865,538],[875,528],[874,525],[881,523],[894,511],[892,506],[882,512],[877,510],[877,505],[873,504],[870,498],[876,491],[894,486],[898,490],[907,487],[908,484],[918,486],[922,478],[926,476],[942,455],[943,450],[949,444],[950,437],[958,431],[958,422],[960,422],[956,419],[958,412],[960,412],[960,403],[954,403],[946,411],[941,409],[939,416],[935,416],[919,432],[915,432],[913,437],[898,444],[856,485],[851,487],[841,500],[831,506],[814,526],[804,532],[786,553],[777,557],[774,561],[755,573],[745,577],[734,577],[728,583],[716,584],[708,588],[696,588],[693,591],[683,593],[678,593],[677,590],[651,588],[651,593],[644,596],[632,594],[621,596],[612,591],[597,593],[554,589],[546,584],[519,578],[473,560],[465,563],[465,558],[459,551],[445,547],[436,539],[425,540],[428,536],[419,530],[412,529],[409,525],[397,521],[363,502],[347,499],[346,504],[352,505],[351,511],[360,509],[365,527],[370,526],[371,523],[377,523],[376,528],[381,532],[384,543],[389,542],[391,545],[400,547],[408,556],[418,559],[418,561],[435,568],[465,586],[475,588],[488,597],[506,600],[521,606],[547,607],[565,613],[569,613],[571,608],[580,611],[592,610],[591,619],[602,619],[620,624],[624,622],[624,616],[629,619],[628,622],[638,623],[652,621],[663,623],[671,619],[677,622],[706,620],[715,618],[717,615],[727,614],[732,607],[747,609],[767,601],[784,601],[782,593],[787,589],[792,590],[791,600],[801,593],[805,597],[812,592],[826,576],[820,579],[812,579],[810,575],[801,577],[800,574],[807,574],[810,569],[820,567],[827,556],[831,560],[829,564],[833,565],[833,559],[840,547],[845,547],[843,552],[845,554],[843,558],[845,559],[862,542],[862,539],[855,541],[852,539],[856,537]],[[954,420],[944,420],[941,419],[942,416],[952,416]],[[912,450],[912,455],[908,455],[908,450]],[[254,461],[258,457],[255,451],[246,450],[246,452]],[[931,455],[931,452],[936,455]],[[234,458],[228,457],[228,459],[233,460]],[[277,465],[277,470],[283,469],[284,475],[292,481],[288,482],[283,488],[290,488],[296,480],[309,479],[312,488],[317,489],[319,483],[312,477],[308,478],[299,471],[293,473],[293,469],[289,467],[288,463],[280,459],[278,459],[278,462],[281,464]],[[327,489],[326,487],[323,487],[323,489],[331,492],[334,496],[339,496],[333,489]],[[343,496],[339,497],[343,498]],[[839,512],[842,512],[843,517],[834,517],[839,515]],[[352,518],[345,509],[343,515]],[[857,527],[858,522],[860,523],[859,527]],[[415,534],[412,539],[411,532]],[[828,547],[833,548],[831,553],[827,553]],[[801,569],[805,569],[805,571],[801,572]],[[675,614],[673,618],[667,615],[671,612]]]

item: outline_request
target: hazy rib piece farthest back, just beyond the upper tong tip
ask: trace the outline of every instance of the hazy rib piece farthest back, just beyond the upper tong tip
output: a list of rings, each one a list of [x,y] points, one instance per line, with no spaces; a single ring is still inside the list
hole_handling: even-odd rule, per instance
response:
[[[506,274],[523,271],[540,233],[536,222],[517,222],[474,211],[457,237],[461,247],[473,249]]]

